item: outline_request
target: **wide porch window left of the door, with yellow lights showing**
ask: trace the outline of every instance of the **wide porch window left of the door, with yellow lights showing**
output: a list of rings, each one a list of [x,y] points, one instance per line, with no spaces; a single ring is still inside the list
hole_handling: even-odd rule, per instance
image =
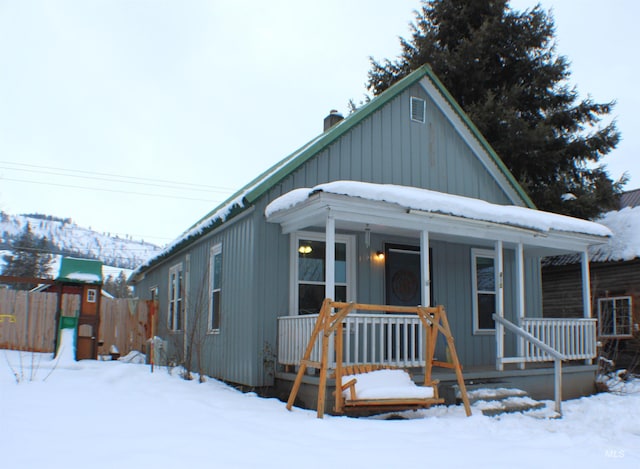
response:
[[[316,314],[325,298],[324,236],[298,233],[293,237],[293,314]],[[355,295],[353,279],[353,237],[336,235],[334,301],[349,301]]]

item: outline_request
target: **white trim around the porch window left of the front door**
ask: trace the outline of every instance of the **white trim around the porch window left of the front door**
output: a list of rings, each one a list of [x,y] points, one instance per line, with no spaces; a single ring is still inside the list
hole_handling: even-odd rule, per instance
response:
[[[298,316],[298,300],[299,300],[299,279],[298,279],[298,242],[301,239],[308,239],[310,241],[322,241],[326,245],[326,235],[323,232],[315,231],[296,231],[290,236],[290,264],[289,264],[289,316]],[[335,242],[343,243],[346,246],[346,275],[347,281],[344,284],[347,288],[347,301],[355,301],[356,295],[356,237],[354,235],[338,234],[335,235]],[[318,285],[324,285],[323,282],[319,282]],[[336,282],[336,285],[343,285],[343,283]]]

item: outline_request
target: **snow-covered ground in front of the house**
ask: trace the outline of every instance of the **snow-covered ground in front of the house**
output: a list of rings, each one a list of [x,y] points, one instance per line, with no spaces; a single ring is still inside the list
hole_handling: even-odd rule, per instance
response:
[[[640,383],[562,419],[326,416],[124,361],[0,350],[3,468],[640,467]]]

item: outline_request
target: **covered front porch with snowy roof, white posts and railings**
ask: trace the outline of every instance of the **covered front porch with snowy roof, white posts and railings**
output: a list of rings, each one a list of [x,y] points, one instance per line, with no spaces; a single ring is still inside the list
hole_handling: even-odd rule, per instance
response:
[[[265,215],[291,240],[290,309],[278,318],[278,379],[300,364],[317,318],[309,313],[319,310],[323,298],[337,298],[444,305],[465,379],[527,377],[532,388],[550,382],[558,407],[559,395],[572,395],[562,379],[563,362],[572,364],[564,367],[567,375],[573,374],[569,368],[580,369],[593,383],[596,323],[587,249],[609,235],[601,225],[353,181],[297,189],[274,201]],[[553,319],[553,312],[542,311],[540,259],[561,253],[581,255],[582,318]],[[386,314],[384,307],[376,314],[353,311],[342,327],[339,358],[345,366],[371,363],[414,371],[425,366],[424,332],[415,316]],[[331,368],[336,357],[333,344],[329,347]],[[318,354],[316,344],[310,360]],[[436,365],[450,362],[447,344],[436,345],[434,358]],[[545,368],[551,362],[554,366]],[[447,381],[447,371],[437,373]],[[546,379],[547,373],[554,379]],[[313,382],[311,375],[305,379]]]

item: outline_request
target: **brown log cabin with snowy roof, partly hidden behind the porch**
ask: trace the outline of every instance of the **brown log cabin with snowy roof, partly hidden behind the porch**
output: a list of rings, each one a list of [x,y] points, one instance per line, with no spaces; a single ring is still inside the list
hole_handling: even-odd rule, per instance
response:
[[[598,220],[613,232],[589,250],[594,316],[603,355],[618,368],[640,370],[640,189],[620,198],[620,209]],[[579,269],[575,256],[545,259],[542,269],[545,315],[576,317]]]

